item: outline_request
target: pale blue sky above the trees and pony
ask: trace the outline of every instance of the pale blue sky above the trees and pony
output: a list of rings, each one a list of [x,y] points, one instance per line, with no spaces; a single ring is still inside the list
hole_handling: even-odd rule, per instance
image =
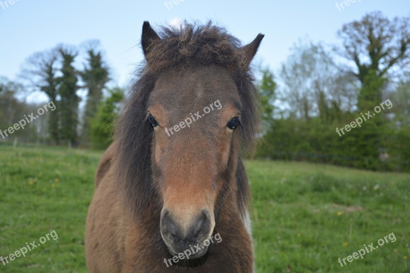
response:
[[[389,18],[410,15],[409,0],[353,1],[0,0],[0,76],[18,80],[25,59],[33,53],[98,39],[112,68],[111,86],[125,87],[144,58],[139,46],[142,23],[149,20],[155,28],[183,19],[211,19],[243,44],[265,34],[254,64],[275,71],[299,38],[337,44],[343,24],[368,12],[380,10]],[[26,99],[46,97],[34,93]]]

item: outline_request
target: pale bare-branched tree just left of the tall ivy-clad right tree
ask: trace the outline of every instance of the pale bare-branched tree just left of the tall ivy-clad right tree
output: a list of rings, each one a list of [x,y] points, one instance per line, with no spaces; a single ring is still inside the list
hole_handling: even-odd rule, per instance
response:
[[[299,41],[279,76],[291,111],[308,121],[313,116],[327,119],[329,108],[348,107],[352,100],[349,82],[341,80],[332,57],[320,44]]]

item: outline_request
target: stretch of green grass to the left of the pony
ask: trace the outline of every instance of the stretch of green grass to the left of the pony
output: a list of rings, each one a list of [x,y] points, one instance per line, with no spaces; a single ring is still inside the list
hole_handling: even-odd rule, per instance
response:
[[[85,221],[101,155],[0,147],[0,256],[53,229],[58,234],[0,271],[87,272]]]

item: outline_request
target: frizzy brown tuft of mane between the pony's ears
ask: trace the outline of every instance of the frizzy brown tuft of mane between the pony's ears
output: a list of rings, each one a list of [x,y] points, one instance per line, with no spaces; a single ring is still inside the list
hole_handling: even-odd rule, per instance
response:
[[[239,50],[240,41],[211,21],[202,26],[184,22],[178,28],[162,27],[158,34],[161,40],[146,56],[147,68],[153,73],[210,64],[235,68],[240,75],[248,70],[246,57]]]

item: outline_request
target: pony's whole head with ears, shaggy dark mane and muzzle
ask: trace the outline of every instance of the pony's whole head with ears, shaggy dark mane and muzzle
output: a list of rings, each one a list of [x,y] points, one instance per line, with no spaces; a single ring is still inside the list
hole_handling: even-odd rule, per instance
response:
[[[249,65],[262,38],[241,47],[211,23],[159,35],[142,27],[147,63],[119,119],[117,175],[137,219],[158,205],[174,255],[199,244],[191,258],[203,256],[221,209],[246,209],[248,185],[236,175],[259,125]]]

